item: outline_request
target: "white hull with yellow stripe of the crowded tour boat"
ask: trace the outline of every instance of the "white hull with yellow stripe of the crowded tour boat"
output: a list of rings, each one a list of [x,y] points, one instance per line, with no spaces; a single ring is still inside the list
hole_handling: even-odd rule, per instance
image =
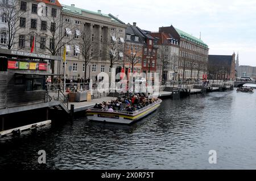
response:
[[[143,117],[146,117],[150,115],[152,112],[154,112],[159,106],[160,103],[155,104],[152,107],[147,108],[146,110],[143,110],[135,115],[129,115],[126,113],[118,113],[118,112],[105,112],[105,111],[86,111],[87,119],[90,121],[100,121],[105,123],[117,123],[117,124],[133,124],[136,121],[139,121],[143,119]]]

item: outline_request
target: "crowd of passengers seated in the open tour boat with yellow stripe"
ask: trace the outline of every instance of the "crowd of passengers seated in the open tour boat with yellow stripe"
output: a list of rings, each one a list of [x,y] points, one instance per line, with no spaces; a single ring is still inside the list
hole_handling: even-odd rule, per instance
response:
[[[95,104],[94,109],[114,112],[114,111],[127,111],[134,112],[141,110],[143,107],[146,107],[154,102],[156,99],[147,99],[140,97],[139,95],[134,95],[132,97],[118,98],[111,100],[110,102],[102,102],[100,104]]]

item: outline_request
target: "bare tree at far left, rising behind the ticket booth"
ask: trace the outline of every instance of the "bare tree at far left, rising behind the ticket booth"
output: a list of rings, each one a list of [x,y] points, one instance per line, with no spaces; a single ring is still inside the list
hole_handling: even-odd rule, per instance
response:
[[[9,0],[0,2],[0,12],[2,13],[2,19],[6,22],[6,47],[7,49],[13,49],[15,44],[19,41],[15,41],[18,31],[20,30],[20,17],[28,10],[20,10],[20,1]]]

